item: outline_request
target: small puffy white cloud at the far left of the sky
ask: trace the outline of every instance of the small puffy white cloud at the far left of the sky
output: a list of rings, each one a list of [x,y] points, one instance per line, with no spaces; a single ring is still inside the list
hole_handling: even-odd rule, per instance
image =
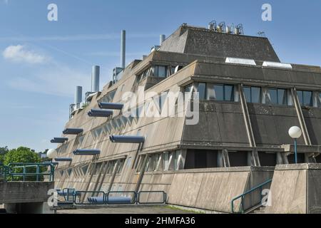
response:
[[[17,63],[39,64],[49,60],[47,56],[36,53],[36,51],[27,50],[27,48],[22,45],[8,46],[2,55],[6,60]]]

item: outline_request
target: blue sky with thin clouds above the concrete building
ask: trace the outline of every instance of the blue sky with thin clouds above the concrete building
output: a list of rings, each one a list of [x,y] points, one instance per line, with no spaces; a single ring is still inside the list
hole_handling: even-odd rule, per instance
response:
[[[58,6],[58,21],[47,6]],[[262,21],[261,6],[272,6]],[[180,24],[242,23],[245,34],[265,34],[281,61],[321,65],[321,1],[0,0],[0,147],[51,148],[68,121],[75,86],[101,87],[120,65],[120,32],[127,31],[127,63],[141,58]]]

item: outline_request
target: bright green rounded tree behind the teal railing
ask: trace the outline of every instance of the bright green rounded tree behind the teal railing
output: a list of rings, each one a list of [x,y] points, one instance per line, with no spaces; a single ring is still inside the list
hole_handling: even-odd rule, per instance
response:
[[[10,163],[39,163],[41,162],[41,159],[39,155],[34,152],[34,150],[31,150],[27,147],[19,147],[14,150],[9,150],[9,152],[6,152],[6,155],[4,155],[4,165],[9,165]],[[44,170],[41,170],[44,171]],[[16,168],[14,169],[14,173],[22,173],[22,168]],[[35,173],[36,168],[35,167],[29,167],[26,169],[26,172],[28,173]],[[42,179],[42,178],[41,178]],[[14,177],[13,180],[19,181],[22,180],[22,177]],[[29,176],[26,177],[26,180],[36,180],[36,177]]]

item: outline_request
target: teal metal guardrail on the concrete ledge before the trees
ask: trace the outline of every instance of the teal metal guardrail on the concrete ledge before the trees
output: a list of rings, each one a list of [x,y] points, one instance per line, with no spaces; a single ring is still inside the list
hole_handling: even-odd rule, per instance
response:
[[[41,167],[50,167],[49,172],[41,172]],[[14,177],[36,177],[36,181],[41,181],[41,177],[49,176],[49,181],[54,181],[55,167],[52,163],[10,163],[9,165],[0,164],[0,177],[4,182],[14,181]]]

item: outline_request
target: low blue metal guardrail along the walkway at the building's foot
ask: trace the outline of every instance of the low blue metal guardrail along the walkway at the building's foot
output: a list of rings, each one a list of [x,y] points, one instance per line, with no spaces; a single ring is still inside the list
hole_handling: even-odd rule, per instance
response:
[[[119,204],[165,204],[167,202],[167,194],[164,191],[74,191],[74,189],[65,189],[73,191],[73,203],[76,205],[119,205]],[[69,192],[68,192],[69,193]],[[152,193],[162,194],[162,200],[160,202],[143,202],[141,201],[141,194]],[[115,194],[131,195],[130,197],[117,197]],[[68,195],[68,194],[67,194]],[[91,195],[91,196],[87,196]],[[102,195],[97,197],[94,195]],[[83,199],[81,199],[83,197]],[[66,202],[70,202],[68,196],[66,196]],[[78,199],[78,200],[77,200]]]

